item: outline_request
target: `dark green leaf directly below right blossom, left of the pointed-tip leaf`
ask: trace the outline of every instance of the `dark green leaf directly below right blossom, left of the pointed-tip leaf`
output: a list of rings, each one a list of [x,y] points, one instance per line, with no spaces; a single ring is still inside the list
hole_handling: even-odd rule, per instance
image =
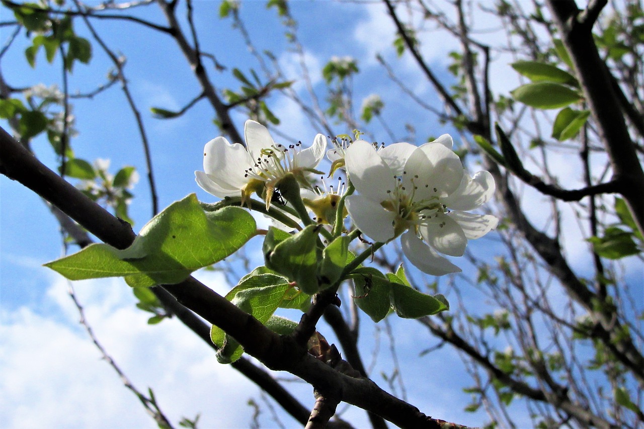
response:
[[[381,321],[392,307],[389,298],[390,281],[372,267],[359,268],[354,272],[355,304],[374,322]]]

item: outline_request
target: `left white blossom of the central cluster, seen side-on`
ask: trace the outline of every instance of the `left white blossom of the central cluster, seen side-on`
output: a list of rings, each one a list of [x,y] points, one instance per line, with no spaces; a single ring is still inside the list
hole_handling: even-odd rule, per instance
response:
[[[307,187],[308,174],[320,173],[315,168],[327,147],[322,134],[316,135],[306,149],[301,148],[301,143],[285,146],[274,142],[265,126],[247,120],[244,138],[246,148],[239,143],[230,144],[224,137],[206,143],[204,171],[194,172],[197,184],[204,191],[220,198],[242,196],[242,204],[253,192],[260,195],[265,192],[269,207],[275,187],[286,175],[292,173]]]

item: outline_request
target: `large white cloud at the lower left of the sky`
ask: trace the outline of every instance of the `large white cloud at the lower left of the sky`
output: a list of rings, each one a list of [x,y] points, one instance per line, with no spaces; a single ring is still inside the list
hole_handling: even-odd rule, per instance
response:
[[[223,283],[218,275],[202,277],[210,277],[211,284]],[[217,363],[213,350],[179,321],[147,325],[147,314],[136,309],[122,281],[79,282],[77,295],[99,341],[139,390],[153,388],[173,423],[202,413],[204,428],[249,425],[251,412],[245,404],[258,396],[258,388]],[[155,427],[77,324],[66,282],[56,280],[46,300],[59,314],[40,316],[27,307],[1,313],[0,425]]]

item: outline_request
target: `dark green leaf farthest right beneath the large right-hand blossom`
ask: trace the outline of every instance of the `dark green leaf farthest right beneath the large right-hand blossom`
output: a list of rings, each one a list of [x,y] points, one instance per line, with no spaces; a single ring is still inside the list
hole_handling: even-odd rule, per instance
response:
[[[390,299],[396,314],[406,319],[422,318],[450,309],[444,296],[426,295],[400,283],[391,283]]]

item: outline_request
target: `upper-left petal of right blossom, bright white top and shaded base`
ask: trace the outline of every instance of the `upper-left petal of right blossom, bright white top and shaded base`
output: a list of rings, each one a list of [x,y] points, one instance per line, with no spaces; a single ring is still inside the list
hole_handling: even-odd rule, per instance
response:
[[[373,146],[362,140],[352,143],[346,149],[345,162],[349,179],[361,195],[378,204],[392,198],[395,178]]]

